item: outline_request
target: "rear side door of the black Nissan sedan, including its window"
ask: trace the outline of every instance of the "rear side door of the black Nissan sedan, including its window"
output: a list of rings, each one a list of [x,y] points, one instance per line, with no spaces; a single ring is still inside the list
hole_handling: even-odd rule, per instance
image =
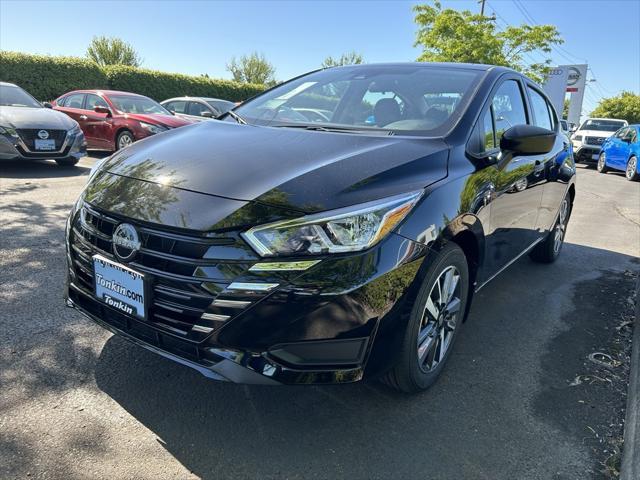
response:
[[[546,96],[532,84],[527,84],[527,95],[532,123],[556,133],[551,151],[545,155],[537,155],[534,159],[535,185],[542,190],[536,228],[544,234],[553,226],[567,191],[567,185],[559,179],[558,172],[566,161],[570,161],[571,144],[562,134],[556,112]]]

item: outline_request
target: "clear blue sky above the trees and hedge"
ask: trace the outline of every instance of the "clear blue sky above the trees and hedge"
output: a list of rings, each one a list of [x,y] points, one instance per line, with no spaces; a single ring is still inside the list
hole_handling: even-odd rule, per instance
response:
[[[328,55],[366,62],[413,61],[415,1],[17,1],[0,0],[0,49],[83,56],[95,35],[131,43],[143,67],[230,78],[231,57],[261,52],[286,80]],[[478,12],[476,0],[444,7]],[[640,93],[640,0],[487,0],[499,27],[556,25],[565,43],[556,65],[588,63],[583,112],[602,97]],[[536,56],[536,58],[540,58]]]

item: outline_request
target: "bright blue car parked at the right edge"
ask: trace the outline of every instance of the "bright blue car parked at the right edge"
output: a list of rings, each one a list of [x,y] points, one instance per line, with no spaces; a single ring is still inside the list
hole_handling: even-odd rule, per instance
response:
[[[602,144],[598,171],[621,170],[629,181],[640,180],[640,124],[622,127]]]

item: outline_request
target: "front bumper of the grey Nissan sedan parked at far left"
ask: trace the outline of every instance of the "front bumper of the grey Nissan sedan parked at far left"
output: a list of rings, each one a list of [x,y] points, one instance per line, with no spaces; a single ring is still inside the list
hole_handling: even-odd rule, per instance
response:
[[[60,160],[75,158],[80,160],[87,155],[87,142],[82,131],[67,133],[60,148],[55,151],[38,152],[30,149],[22,138],[0,135],[0,161]]]

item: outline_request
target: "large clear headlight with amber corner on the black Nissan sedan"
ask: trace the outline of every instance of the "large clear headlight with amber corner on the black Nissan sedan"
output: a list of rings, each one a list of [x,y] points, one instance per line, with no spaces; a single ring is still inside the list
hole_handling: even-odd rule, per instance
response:
[[[261,256],[365,250],[406,217],[422,192],[251,228],[242,237]]]

